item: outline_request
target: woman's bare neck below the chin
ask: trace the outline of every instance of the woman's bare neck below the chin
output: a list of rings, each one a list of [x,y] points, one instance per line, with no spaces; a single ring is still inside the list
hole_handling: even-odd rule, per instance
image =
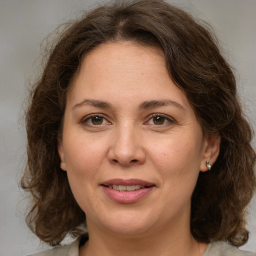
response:
[[[175,223],[171,228],[165,225],[140,234],[127,235],[102,231],[101,227],[88,223],[89,240],[79,248],[79,256],[201,256],[207,244],[196,241],[190,228],[185,228],[187,226],[187,223]]]

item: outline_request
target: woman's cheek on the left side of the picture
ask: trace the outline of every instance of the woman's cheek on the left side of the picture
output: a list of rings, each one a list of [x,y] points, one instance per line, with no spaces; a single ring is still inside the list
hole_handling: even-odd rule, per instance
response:
[[[94,191],[100,166],[104,164],[105,148],[101,141],[73,135],[66,136],[63,145],[70,188],[80,208],[87,213],[93,201],[97,201]]]

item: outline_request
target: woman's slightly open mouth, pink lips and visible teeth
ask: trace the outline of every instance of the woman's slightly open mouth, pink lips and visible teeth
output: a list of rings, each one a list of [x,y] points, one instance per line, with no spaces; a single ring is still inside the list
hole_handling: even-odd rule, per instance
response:
[[[155,185],[140,179],[111,179],[101,184],[106,195],[120,203],[136,202],[150,194]]]

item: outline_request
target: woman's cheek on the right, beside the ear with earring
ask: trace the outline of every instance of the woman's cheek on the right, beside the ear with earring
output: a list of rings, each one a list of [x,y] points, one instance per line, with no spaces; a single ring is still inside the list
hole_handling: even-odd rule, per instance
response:
[[[151,148],[152,162],[161,176],[168,204],[189,203],[199,174],[201,138],[184,134],[169,136]]]

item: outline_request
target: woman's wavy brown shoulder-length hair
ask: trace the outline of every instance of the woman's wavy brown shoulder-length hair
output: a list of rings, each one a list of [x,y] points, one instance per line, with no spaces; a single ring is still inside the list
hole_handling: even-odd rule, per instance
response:
[[[198,241],[248,239],[245,206],[255,188],[252,130],[244,117],[234,74],[208,28],[162,0],[117,1],[83,14],[57,37],[26,111],[27,164],[21,187],[32,195],[26,221],[43,241],[57,245],[81,234],[85,213],[76,203],[57,151],[68,88],[83,55],[104,42],[158,46],[204,134],[220,136],[220,152],[200,172],[191,198],[190,229]]]

